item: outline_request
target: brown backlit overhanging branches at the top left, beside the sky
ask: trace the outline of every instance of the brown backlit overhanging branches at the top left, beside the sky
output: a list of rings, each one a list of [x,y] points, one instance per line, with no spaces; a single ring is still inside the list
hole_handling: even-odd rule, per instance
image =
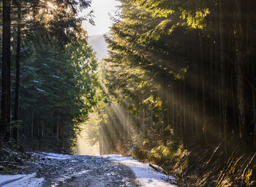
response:
[[[87,39],[82,22],[87,20],[93,23],[91,12],[79,17],[78,13],[91,6],[88,0],[35,0],[23,1],[22,29],[34,31],[38,37],[54,37],[61,43],[77,42]]]

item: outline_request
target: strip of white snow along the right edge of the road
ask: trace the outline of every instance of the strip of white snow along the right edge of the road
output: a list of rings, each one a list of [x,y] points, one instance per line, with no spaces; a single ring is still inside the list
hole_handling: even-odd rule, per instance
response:
[[[118,155],[106,155],[103,158],[108,158],[112,161],[118,161],[121,164],[126,165],[135,173],[135,177],[143,187],[177,187],[176,180],[172,176],[168,176],[157,172],[153,168],[149,167],[148,164],[144,164],[140,161],[132,159],[132,157],[124,157]],[[169,182],[167,181],[169,179]],[[173,183],[173,184],[171,184]]]

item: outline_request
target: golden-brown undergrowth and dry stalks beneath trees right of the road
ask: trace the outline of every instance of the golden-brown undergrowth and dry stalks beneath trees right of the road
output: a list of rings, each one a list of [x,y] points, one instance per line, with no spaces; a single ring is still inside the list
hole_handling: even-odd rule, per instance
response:
[[[136,147],[129,155],[162,167],[176,177],[178,186],[256,185],[255,154],[241,142],[230,143],[226,152],[222,142],[207,146],[191,140],[184,147],[174,139],[151,150]]]

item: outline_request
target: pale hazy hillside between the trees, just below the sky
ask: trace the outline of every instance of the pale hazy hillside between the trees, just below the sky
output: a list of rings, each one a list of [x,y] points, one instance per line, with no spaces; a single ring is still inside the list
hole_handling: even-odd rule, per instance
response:
[[[108,47],[103,35],[104,34],[89,37],[89,45],[94,47],[94,51],[97,52],[96,56],[98,59],[102,59],[108,54]]]

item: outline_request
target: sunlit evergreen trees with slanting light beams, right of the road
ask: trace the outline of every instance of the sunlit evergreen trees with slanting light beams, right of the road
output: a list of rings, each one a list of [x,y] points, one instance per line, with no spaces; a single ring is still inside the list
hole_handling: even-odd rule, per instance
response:
[[[108,103],[101,108],[102,120],[97,123],[101,153],[114,153],[117,147],[123,153],[129,147],[128,153],[136,158],[153,161],[167,173],[173,170],[182,180],[188,175],[187,183],[197,186],[230,181],[227,175],[231,173],[238,177],[237,167],[229,174],[226,167],[232,166],[227,158],[233,156],[232,147],[241,138],[241,129],[246,129],[247,136],[240,141],[252,152],[255,70],[248,69],[255,69],[255,56],[248,51],[255,49],[255,38],[249,37],[254,36],[250,26],[256,22],[251,16],[255,7],[249,4],[255,6],[255,2],[121,3],[121,18],[106,37],[109,55],[100,67]],[[239,11],[244,12],[241,18]],[[241,66],[237,66],[242,54]],[[239,95],[244,102],[238,102]],[[238,117],[243,109],[246,112]],[[241,126],[243,118],[246,123]],[[214,152],[222,141],[220,153]],[[120,145],[125,148],[120,150]],[[227,161],[227,166],[222,161]],[[197,166],[200,173],[192,173]],[[218,176],[221,170],[225,171]],[[255,178],[252,170],[245,172],[246,183]],[[216,182],[217,178],[220,181]]]

